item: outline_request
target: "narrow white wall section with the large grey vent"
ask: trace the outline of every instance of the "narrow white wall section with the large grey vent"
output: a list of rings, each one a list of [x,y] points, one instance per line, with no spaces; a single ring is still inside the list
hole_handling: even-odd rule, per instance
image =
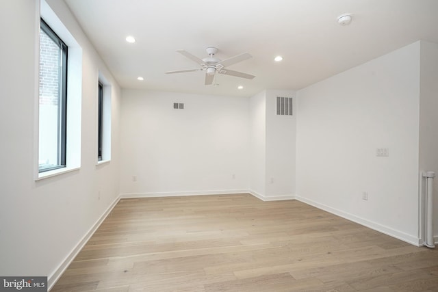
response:
[[[277,96],[296,101],[294,91],[266,90],[266,197],[294,198],[296,113],[277,115]]]

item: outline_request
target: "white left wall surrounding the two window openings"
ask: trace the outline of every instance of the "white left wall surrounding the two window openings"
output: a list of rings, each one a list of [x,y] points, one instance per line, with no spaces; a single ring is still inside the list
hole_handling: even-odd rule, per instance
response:
[[[49,276],[118,197],[120,89],[64,1],[51,8],[83,50],[81,168],[34,181],[38,157],[38,1],[1,1],[0,275]],[[112,161],[96,165],[97,79],[112,82]],[[100,199],[99,199],[100,191]]]

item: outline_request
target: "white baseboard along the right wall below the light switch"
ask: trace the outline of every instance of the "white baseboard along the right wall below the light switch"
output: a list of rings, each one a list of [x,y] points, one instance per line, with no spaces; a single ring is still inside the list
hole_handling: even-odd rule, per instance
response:
[[[365,227],[371,228],[371,229],[376,230],[376,231],[383,233],[385,235],[389,235],[389,236],[394,237],[396,239],[400,239],[400,240],[405,241],[407,243],[411,243],[412,245],[415,245],[415,246],[422,245],[422,243],[420,243],[420,239],[418,239],[417,237],[413,237],[411,235],[408,235],[407,233],[403,233],[402,231],[396,230],[394,228],[390,228],[390,227],[378,224],[376,222],[372,222],[370,220],[363,219],[363,218],[358,217],[356,215],[352,215],[350,213],[326,206],[325,204],[320,204],[318,202],[315,202],[313,200],[309,200],[307,198],[295,196],[295,199],[300,201],[300,202],[304,202],[306,204],[309,204],[313,207],[316,207],[318,209],[322,209],[324,211],[327,211],[329,213],[337,215],[339,217],[343,217],[346,220],[350,220],[350,221],[355,222],[357,224],[361,224]]]

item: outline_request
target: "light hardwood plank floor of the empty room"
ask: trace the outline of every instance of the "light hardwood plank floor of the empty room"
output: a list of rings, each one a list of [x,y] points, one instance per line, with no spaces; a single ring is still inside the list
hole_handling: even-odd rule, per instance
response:
[[[125,199],[55,291],[438,291],[438,250],[296,200]]]

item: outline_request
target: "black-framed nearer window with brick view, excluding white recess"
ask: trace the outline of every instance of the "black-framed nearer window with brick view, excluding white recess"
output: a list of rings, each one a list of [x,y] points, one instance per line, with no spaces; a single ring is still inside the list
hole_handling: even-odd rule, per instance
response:
[[[41,19],[38,171],[66,167],[67,46]]]

